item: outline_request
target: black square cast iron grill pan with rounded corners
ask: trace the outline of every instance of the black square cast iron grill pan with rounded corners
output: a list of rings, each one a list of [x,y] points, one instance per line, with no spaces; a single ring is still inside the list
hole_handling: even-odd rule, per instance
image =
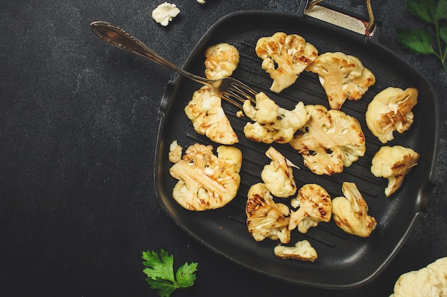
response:
[[[438,109],[430,85],[411,66],[403,62],[374,39],[353,34],[343,28],[331,26],[308,16],[278,14],[266,11],[240,11],[230,14],[212,26],[189,56],[184,68],[204,75],[204,51],[216,43],[226,42],[238,48],[240,63],[233,77],[265,92],[283,108],[292,109],[298,101],[304,104],[321,104],[328,108],[328,101],[318,77],[304,72],[296,83],[280,94],[269,88],[271,78],[261,68],[261,59],[254,51],[256,41],[263,36],[283,31],[303,36],[319,53],[341,51],[357,56],[366,68],[376,75],[376,84],[358,101],[346,101],[341,110],[356,118],[366,135],[366,154],[351,167],[331,177],[313,174],[303,165],[301,155],[289,145],[272,144],[279,152],[300,167],[294,170],[298,189],[307,183],[320,184],[331,197],[342,196],[343,182],[355,182],[369,206],[369,214],[376,217],[378,226],[368,238],[346,234],[331,220],[301,234],[292,231],[291,243],[307,239],[318,252],[313,263],[278,259],[273,248],[279,241],[265,239],[255,241],[246,227],[245,203],[248,188],[262,182],[263,166],[271,160],[264,154],[268,147],[247,140],[243,125],[247,118],[237,118],[237,109],[223,102],[224,110],[238,134],[235,145],[243,154],[241,187],[232,202],[222,209],[191,212],[172,198],[176,179],[169,174],[169,145],[177,140],[188,147],[196,142],[204,145],[218,144],[194,131],[184,113],[184,107],[201,85],[184,78],[169,83],[161,103],[162,115],[155,158],[154,177],[159,202],[166,212],[187,233],[237,264],[273,278],[304,286],[319,288],[353,288],[371,281],[388,264],[411,231],[411,226],[421,214],[425,214],[426,199],[433,187],[430,181],[438,138]],[[371,174],[371,159],[381,147],[368,130],[365,112],[374,95],[388,86],[419,90],[418,104],[413,109],[415,120],[411,130],[403,135],[395,133],[395,139],[387,145],[411,147],[421,155],[418,166],[406,177],[401,189],[386,198],[386,179]],[[288,203],[290,199],[276,199]],[[290,204],[289,204],[290,205]],[[341,273],[342,272],[342,273]]]

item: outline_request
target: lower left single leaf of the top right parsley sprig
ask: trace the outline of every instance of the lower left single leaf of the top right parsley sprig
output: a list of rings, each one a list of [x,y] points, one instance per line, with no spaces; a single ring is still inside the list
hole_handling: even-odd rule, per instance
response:
[[[397,38],[402,46],[405,46],[416,53],[429,55],[435,53],[433,50],[432,36],[430,32],[423,29],[403,30],[397,29]]]

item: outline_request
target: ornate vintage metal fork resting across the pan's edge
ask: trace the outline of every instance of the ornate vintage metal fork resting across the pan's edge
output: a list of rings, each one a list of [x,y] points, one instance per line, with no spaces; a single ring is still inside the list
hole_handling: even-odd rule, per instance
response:
[[[149,46],[146,46],[146,44],[139,41],[139,39],[135,36],[132,36],[130,33],[124,31],[124,29],[109,22],[94,21],[90,24],[90,28],[94,31],[94,33],[96,33],[97,36],[99,36],[99,38],[111,43],[114,46],[123,48],[126,51],[135,53],[138,56],[159,63],[162,66],[184,75],[186,78],[196,81],[197,83],[209,85],[213,88],[216,95],[240,109],[242,109],[242,105],[245,100],[251,100],[252,103],[256,103],[256,91],[252,90],[248,87],[248,85],[241,83],[235,78],[209,80],[193,73],[189,73],[183,68],[176,66],[174,63],[171,63],[160,56],[158,53],[149,48]]]

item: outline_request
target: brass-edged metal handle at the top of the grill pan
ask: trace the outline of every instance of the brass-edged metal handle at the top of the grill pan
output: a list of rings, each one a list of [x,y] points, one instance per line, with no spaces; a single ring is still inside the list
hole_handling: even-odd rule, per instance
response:
[[[302,14],[362,34],[363,36],[373,37],[376,31],[376,23],[371,0],[366,0],[366,9],[368,10],[369,18],[367,21],[363,20],[362,16],[355,16],[348,11],[343,11],[335,6],[323,4],[322,2],[323,0],[302,1]]]

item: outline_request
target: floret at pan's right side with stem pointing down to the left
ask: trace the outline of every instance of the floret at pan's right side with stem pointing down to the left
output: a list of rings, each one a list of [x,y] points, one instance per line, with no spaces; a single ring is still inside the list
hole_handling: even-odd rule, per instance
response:
[[[401,145],[383,146],[376,152],[372,160],[371,172],[376,177],[388,179],[388,187],[385,189],[386,197],[401,187],[403,178],[411,168],[418,165],[418,160],[417,152]]]

